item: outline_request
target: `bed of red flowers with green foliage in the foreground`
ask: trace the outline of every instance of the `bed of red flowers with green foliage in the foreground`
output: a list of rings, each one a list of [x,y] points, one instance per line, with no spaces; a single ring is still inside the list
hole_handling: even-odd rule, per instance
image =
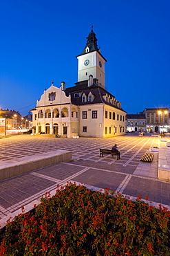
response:
[[[166,208],[68,184],[19,214],[1,234],[2,255],[170,255]]]

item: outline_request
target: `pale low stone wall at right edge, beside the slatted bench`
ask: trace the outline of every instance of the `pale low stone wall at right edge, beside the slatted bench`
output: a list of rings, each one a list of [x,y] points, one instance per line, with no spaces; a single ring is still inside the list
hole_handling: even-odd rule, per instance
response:
[[[170,181],[170,148],[159,147],[158,179]]]

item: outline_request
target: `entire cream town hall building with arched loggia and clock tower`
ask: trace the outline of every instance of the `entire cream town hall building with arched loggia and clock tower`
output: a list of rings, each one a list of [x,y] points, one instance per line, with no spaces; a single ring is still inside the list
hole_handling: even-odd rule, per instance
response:
[[[93,30],[78,59],[78,82],[66,88],[61,82],[45,90],[32,109],[34,134],[111,137],[125,134],[126,112],[105,90],[105,58]]]

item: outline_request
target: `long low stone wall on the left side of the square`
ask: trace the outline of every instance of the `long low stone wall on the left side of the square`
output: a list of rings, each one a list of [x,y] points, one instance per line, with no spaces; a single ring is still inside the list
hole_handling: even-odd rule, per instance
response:
[[[26,156],[15,160],[4,161],[0,167],[0,181],[14,176],[31,172],[39,168],[59,162],[68,162],[72,159],[72,152],[55,150],[49,153]]]

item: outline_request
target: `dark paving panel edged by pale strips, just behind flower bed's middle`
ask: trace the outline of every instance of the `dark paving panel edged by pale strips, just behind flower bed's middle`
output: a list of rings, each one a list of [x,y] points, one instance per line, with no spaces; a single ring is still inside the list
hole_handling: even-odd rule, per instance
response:
[[[92,185],[97,188],[111,188],[116,190],[120,183],[125,179],[125,174],[115,174],[102,170],[89,169],[83,174],[74,177],[74,181]]]

